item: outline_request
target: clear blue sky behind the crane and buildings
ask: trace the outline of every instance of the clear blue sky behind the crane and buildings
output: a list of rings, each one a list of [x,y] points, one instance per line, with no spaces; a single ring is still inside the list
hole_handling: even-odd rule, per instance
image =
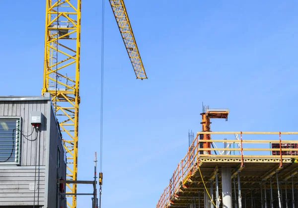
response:
[[[297,1],[125,3],[149,79],[135,79],[106,1],[103,207],[156,205],[187,151],[188,130],[201,130],[202,101],[230,109],[213,131],[296,131]],[[1,8],[0,94],[40,95],[45,0]],[[100,34],[101,1],[82,0],[81,180],[92,180],[100,148]],[[77,207],[88,203],[79,197]]]

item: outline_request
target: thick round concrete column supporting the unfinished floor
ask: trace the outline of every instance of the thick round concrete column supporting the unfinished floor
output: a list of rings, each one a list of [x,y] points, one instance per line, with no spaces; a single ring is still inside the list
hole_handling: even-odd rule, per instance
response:
[[[231,168],[222,167],[223,208],[232,208]]]

